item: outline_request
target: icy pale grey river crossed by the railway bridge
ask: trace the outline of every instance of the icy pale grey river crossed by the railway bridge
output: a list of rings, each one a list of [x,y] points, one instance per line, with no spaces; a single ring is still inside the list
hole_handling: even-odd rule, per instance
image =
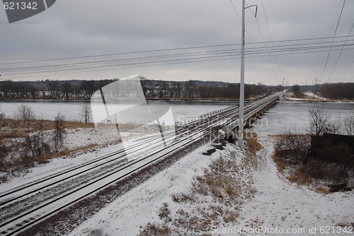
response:
[[[18,106],[28,105],[35,115],[42,119],[54,119],[57,114],[64,114],[68,120],[81,120],[80,107],[89,101],[65,100],[25,100],[0,102],[0,110],[6,116],[13,117]],[[235,105],[235,102],[210,102],[210,101],[169,101],[173,119],[183,122],[201,114]],[[342,119],[354,116],[354,103],[323,102],[324,110],[331,114],[332,119]],[[309,102],[278,102],[265,115],[253,123],[251,131],[258,134],[280,134],[285,130],[307,131],[309,127],[309,107],[314,103]]]

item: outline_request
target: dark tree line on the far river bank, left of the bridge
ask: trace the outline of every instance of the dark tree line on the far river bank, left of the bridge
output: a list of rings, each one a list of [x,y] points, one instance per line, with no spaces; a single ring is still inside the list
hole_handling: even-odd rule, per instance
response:
[[[156,81],[140,76],[142,90],[151,100],[237,100],[239,83],[217,81]],[[0,99],[89,99],[117,79],[98,81],[0,81]],[[245,98],[268,95],[282,86],[245,85]]]

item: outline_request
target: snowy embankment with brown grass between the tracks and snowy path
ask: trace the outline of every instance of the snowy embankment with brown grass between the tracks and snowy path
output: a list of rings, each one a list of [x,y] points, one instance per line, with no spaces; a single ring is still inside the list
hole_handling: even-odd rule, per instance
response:
[[[253,196],[256,163],[232,144],[209,143],[120,196],[72,235],[138,235],[155,226],[172,235],[210,233],[234,222]]]

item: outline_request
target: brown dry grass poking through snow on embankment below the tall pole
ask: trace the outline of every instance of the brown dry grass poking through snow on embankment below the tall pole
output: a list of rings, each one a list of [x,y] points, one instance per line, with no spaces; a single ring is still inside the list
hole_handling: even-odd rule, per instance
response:
[[[166,206],[160,208],[159,218],[169,225],[172,235],[210,235],[212,226],[236,221],[241,204],[256,194],[252,173],[257,168],[257,158],[247,150],[252,146],[256,153],[261,146],[256,137],[247,138],[251,145],[244,150],[244,158],[236,161],[230,154],[213,160],[202,175],[195,176],[188,193],[171,194],[175,205],[171,212]],[[152,228],[150,225],[145,228]]]

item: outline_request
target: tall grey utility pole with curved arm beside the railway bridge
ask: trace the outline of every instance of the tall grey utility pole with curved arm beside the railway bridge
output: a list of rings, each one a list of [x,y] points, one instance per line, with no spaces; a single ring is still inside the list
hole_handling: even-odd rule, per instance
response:
[[[256,14],[257,16],[257,5],[256,6]],[[247,6],[246,8],[250,8],[251,6]],[[241,80],[240,80],[240,103],[239,103],[239,138],[238,144],[239,147],[244,146],[244,45],[245,45],[245,0],[242,0],[242,27],[241,27]]]

